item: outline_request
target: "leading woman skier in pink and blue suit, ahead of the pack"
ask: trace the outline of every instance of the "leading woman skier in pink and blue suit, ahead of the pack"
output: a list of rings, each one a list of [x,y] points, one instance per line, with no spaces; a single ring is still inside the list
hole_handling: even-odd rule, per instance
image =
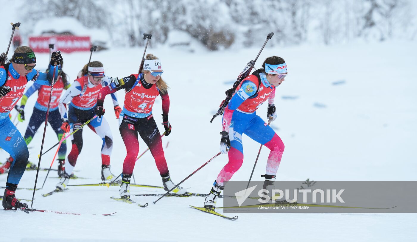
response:
[[[229,154],[229,162],[221,169],[213,188],[206,196],[206,208],[216,208],[217,197],[224,189],[224,182],[229,181],[243,163],[242,134],[271,150],[266,163],[266,173],[261,177],[265,177],[266,182],[273,183],[275,180],[284,152],[284,143],[274,130],[256,115],[256,110],[268,100],[268,120],[276,119],[275,88],[284,81],[287,67],[284,59],[277,56],[266,58],[262,67],[264,69],[256,70],[242,80],[224,110],[220,151]]]

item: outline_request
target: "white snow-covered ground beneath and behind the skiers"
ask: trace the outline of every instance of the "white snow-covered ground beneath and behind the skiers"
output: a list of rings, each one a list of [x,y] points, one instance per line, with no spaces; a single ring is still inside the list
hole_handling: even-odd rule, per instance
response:
[[[261,43],[260,43],[261,45]],[[274,47],[268,45],[256,67],[271,55],[283,57],[289,75],[277,89],[278,119],[271,124],[285,144],[278,180],[416,180],[415,136],[417,135],[416,42],[355,43],[349,45]],[[221,117],[211,116],[246,62],[258,48],[194,53],[169,47],[148,49],[164,62],[164,79],[171,99],[169,120],[173,131],[163,137],[171,177],[179,182],[219,152]],[[137,72],[143,49],[112,49],[95,52],[106,75],[124,77]],[[89,53],[65,54],[63,70],[73,80],[88,61]],[[37,54],[38,66],[48,63],[48,54]],[[118,92],[120,103],[124,94]],[[26,105],[29,120],[36,98]],[[258,115],[266,116],[262,105]],[[110,98],[106,98],[106,119],[114,138],[111,165],[121,172],[126,149],[118,132]],[[162,122],[161,100],[157,99],[155,119]],[[13,115],[15,113],[13,112]],[[28,121],[18,128],[24,133]],[[163,126],[159,125],[160,130]],[[37,163],[43,127],[30,143],[30,161]],[[44,150],[57,142],[48,127]],[[140,142],[140,152],[147,147]],[[168,147],[166,147],[168,146]],[[84,130],[84,147],[75,170],[79,177],[70,184],[100,182],[101,140]],[[70,144],[68,144],[70,148]],[[259,144],[244,135],[245,160],[233,180],[247,180]],[[54,152],[43,156],[41,167],[49,167]],[[254,180],[265,174],[268,150],[263,149]],[[4,151],[0,159],[8,157]],[[218,172],[226,164],[221,155],[183,183],[190,192],[209,192]],[[56,163],[54,164],[56,167]],[[34,171],[26,171],[20,187],[33,187]],[[38,187],[46,172],[40,172]],[[136,163],[137,183],[162,185],[148,152]],[[411,241],[417,237],[415,214],[236,214],[236,221],[192,210],[203,198],[133,197],[146,208],[117,202],[118,187],[70,187],[50,197],[58,179],[50,174],[43,190],[36,192],[34,207],[44,210],[78,212],[83,215],[0,211],[7,234],[0,241]],[[0,175],[4,186],[6,175]],[[33,191],[18,190],[17,197],[30,199]],[[131,187],[132,194],[161,193],[161,189]],[[415,201],[414,201],[415,202]],[[219,201],[219,206],[222,201]],[[117,212],[105,217],[92,214]],[[229,215],[229,214],[228,214]]]

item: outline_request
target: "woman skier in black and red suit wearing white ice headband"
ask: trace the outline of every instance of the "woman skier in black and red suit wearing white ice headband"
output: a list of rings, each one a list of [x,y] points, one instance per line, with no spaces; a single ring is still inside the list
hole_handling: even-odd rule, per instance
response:
[[[124,89],[126,91],[123,112],[119,117],[119,130],[126,145],[127,155],[123,163],[122,185],[120,196],[130,198],[130,180],[139,153],[138,133],[148,145],[155,159],[156,167],[162,177],[166,191],[175,185],[169,176],[168,166],[162,149],[161,134],[152,115],[152,106],[158,95],[162,98],[162,120],[165,135],[171,133],[168,122],[169,97],[168,86],[162,79],[163,66],[161,60],[152,54],[146,55],[143,73],[132,74],[123,79],[112,82],[111,85],[100,90],[95,113],[100,117],[104,114],[103,102],[106,95]],[[186,189],[177,187],[173,190],[177,194],[186,193]]]

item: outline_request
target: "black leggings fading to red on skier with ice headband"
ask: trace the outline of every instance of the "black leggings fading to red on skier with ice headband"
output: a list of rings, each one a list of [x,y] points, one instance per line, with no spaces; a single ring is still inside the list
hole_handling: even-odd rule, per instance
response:
[[[144,118],[124,115],[119,130],[127,151],[123,162],[123,174],[131,175],[133,167],[135,167],[136,158],[139,154],[138,133],[151,150],[159,173],[168,173],[168,166],[162,149],[161,134],[152,115]]]

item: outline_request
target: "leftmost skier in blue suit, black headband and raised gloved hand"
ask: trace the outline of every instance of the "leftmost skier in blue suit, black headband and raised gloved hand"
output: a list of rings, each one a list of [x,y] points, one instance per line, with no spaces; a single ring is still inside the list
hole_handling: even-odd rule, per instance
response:
[[[62,60],[61,54],[53,52],[49,69],[53,70],[54,65],[58,65],[60,60]],[[25,172],[29,150],[19,130],[10,121],[9,112],[23,96],[28,81],[51,85],[53,72],[46,74],[34,69],[35,53],[28,46],[16,48],[10,62],[0,66],[0,147],[13,157],[4,191],[3,207],[25,209],[28,205],[16,199],[15,191]],[[55,72],[54,80],[57,78],[58,72]]]

